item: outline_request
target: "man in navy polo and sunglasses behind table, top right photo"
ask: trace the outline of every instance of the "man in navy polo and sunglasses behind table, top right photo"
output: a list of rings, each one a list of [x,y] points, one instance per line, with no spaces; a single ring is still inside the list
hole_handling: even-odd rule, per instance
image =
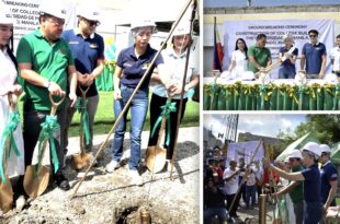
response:
[[[308,32],[309,43],[303,47],[301,56],[301,69],[306,70],[308,79],[322,79],[326,69],[326,46],[318,42],[319,32],[310,30]],[[306,66],[306,67],[305,67]]]

